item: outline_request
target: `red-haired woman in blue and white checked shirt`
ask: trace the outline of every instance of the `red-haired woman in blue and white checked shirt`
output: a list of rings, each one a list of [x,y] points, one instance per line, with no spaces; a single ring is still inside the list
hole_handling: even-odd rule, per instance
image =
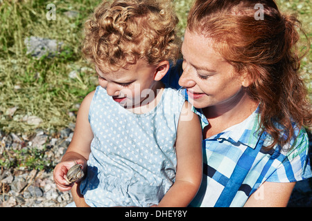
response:
[[[299,26],[269,0],[191,8],[183,73],[177,66],[166,77],[180,77],[202,122],[204,172],[191,206],[286,206],[295,182],[312,176]]]

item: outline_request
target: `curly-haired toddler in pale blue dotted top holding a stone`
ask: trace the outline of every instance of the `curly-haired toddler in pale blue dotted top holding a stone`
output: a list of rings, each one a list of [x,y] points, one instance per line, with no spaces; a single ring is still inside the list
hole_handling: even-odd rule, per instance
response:
[[[198,117],[165,86],[178,55],[170,1],[103,2],[85,24],[83,53],[99,86],[83,100],[54,180],[76,206],[187,206],[202,177]],[[85,180],[65,179],[83,164]],[[71,204],[69,206],[74,206]]]

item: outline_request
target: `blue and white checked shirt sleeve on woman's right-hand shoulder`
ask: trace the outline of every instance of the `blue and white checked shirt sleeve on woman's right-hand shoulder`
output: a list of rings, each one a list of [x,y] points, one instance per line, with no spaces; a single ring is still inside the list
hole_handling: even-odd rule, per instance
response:
[[[281,148],[279,157],[272,165],[276,166],[276,170],[266,181],[298,182],[312,177],[309,138],[303,128],[291,144],[293,145],[286,144]]]

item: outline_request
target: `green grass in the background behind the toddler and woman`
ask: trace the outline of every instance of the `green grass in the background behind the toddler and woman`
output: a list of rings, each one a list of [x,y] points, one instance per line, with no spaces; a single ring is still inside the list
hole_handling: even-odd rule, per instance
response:
[[[191,0],[175,1],[182,36],[187,22]],[[96,76],[80,53],[83,23],[98,0],[52,1],[56,6],[56,20],[46,19],[46,4],[42,0],[0,1],[0,130],[31,133],[35,128],[59,130],[75,122],[78,104],[96,87]],[[311,37],[311,6],[307,1],[281,1],[281,8],[298,12],[308,36]],[[69,18],[64,12],[79,12]],[[26,55],[24,39],[30,36],[63,41],[62,52],[52,58],[35,59]],[[302,75],[311,85],[311,53],[304,59]],[[84,72],[81,71],[85,70]],[[69,78],[72,70],[78,78]],[[10,114],[10,108],[17,108]],[[28,125],[23,118],[37,116],[39,126]]]

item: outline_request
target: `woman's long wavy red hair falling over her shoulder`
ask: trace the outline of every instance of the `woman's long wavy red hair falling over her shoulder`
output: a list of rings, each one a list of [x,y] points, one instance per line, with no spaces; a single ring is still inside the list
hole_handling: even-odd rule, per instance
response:
[[[261,130],[273,139],[268,148],[291,140],[292,122],[299,128],[311,125],[311,104],[299,74],[297,29],[302,29],[294,15],[281,14],[272,0],[197,0],[187,28],[213,39],[237,73],[248,74],[249,95],[259,102]]]

